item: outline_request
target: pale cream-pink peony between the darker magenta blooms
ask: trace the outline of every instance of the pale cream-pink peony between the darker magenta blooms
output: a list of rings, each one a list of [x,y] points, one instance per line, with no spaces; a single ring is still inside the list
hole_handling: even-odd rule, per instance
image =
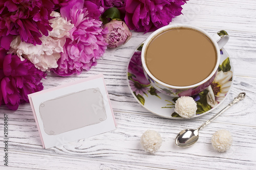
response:
[[[69,37],[69,31],[74,25],[61,17],[58,12],[53,11],[51,16],[55,17],[49,20],[52,23],[53,30],[49,31],[49,36],[43,35],[39,38],[42,41],[41,45],[22,42],[20,37],[17,36],[11,42],[9,53],[17,54],[22,61],[27,58],[41,71],[50,71],[50,68],[57,68],[60,53],[63,52],[66,38]]]

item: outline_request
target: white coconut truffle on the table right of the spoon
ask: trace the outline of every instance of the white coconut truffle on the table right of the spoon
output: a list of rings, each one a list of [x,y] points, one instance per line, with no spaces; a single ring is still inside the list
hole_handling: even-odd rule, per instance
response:
[[[221,129],[215,132],[211,137],[211,144],[216,151],[225,152],[229,150],[233,142],[231,133],[228,130]]]

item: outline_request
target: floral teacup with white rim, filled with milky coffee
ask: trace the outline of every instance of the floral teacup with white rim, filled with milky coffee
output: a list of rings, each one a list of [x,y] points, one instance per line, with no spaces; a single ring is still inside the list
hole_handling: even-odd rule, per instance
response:
[[[188,30],[188,31],[187,31]],[[154,68],[155,70],[160,70],[162,72],[152,72],[150,70],[150,66],[148,65],[152,65],[154,67],[154,62],[152,61],[158,61],[156,57],[152,57],[150,59],[148,59],[147,57],[147,52],[152,50],[153,49],[153,43],[155,42],[160,42],[161,43],[161,39],[159,38],[161,36],[161,38],[165,38],[168,42],[175,42],[177,41],[177,39],[173,39],[172,37],[169,37],[168,38],[168,34],[170,33],[170,31],[176,31],[175,33],[173,32],[172,35],[174,36],[178,36],[179,34],[183,34],[183,32],[186,32],[188,33],[188,35],[193,33],[193,32],[197,32],[199,33],[199,35],[205,37],[211,44],[212,44],[212,49],[214,50],[214,55],[216,57],[215,59],[215,63],[212,63],[212,69],[211,70],[207,70],[206,69],[201,69],[200,71],[206,71],[206,74],[207,74],[207,77],[204,77],[202,78],[202,80],[200,80],[199,82],[195,82],[193,84],[184,84],[184,85],[174,85],[172,84],[172,76],[174,74],[177,74],[178,75],[178,72],[179,70],[172,70],[172,71],[169,71],[171,70],[171,67],[172,65],[174,64],[180,64],[181,67],[180,69],[183,69],[185,71],[187,71],[187,73],[191,74],[192,77],[193,76],[197,76],[197,74],[199,74],[200,71],[197,71],[197,72],[193,72],[193,67],[197,67],[198,64],[197,62],[199,63],[199,59],[197,58],[198,56],[196,54],[194,54],[194,52],[192,53],[191,52],[191,57],[193,57],[193,60],[190,60],[188,61],[188,58],[187,56],[172,56],[172,51],[175,50],[170,50],[169,53],[166,52],[166,54],[164,55],[160,55],[158,56],[163,62],[165,62],[165,60],[167,61],[167,58],[166,57],[169,57],[168,60],[171,58],[171,57],[179,57],[181,60],[180,60],[180,63],[172,63],[170,62],[169,63],[169,67],[170,68],[167,68],[168,64],[166,65],[166,63],[164,63],[163,65],[164,66],[161,66],[161,65],[157,65],[158,62],[155,62],[156,63],[156,67]],[[194,34],[194,33],[193,33]],[[185,37],[184,40],[187,40],[189,41],[190,39],[187,38],[189,36],[183,36]],[[186,39],[187,38],[187,39]],[[156,40],[158,39],[158,40]],[[196,38],[197,39],[197,38]],[[214,34],[214,35],[210,35],[208,32],[206,32],[205,30],[201,29],[201,28],[198,28],[198,27],[195,27],[195,26],[190,26],[190,25],[168,25],[168,26],[165,26],[165,27],[162,27],[158,30],[156,30],[155,32],[153,32],[147,39],[146,41],[144,42],[144,45],[142,47],[142,52],[141,52],[141,61],[142,61],[142,67],[143,67],[143,71],[144,71],[144,75],[146,76],[146,78],[148,79],[148,81],[151,82],[152,86],[155,87],[158,91],[166,94],[166,95],[169,95],[169,96],[175,96],[175,97],[179,97],[179,96],[191,96],[191,95],[196,95],[198,93],[200,93],[201,91],[203,91],[204,89],[206,89],[211,83],[212,81],[214,81],[216,75],[217,75],[217,72],[218,72],[218,68],[219,68],[219,64],[220,64],[220,49],[227,43],[229,39],[229,36],[227,34],[226,31],[222,30],[222,31],[219,31],[218,33]],[[191,41],[194,41],[191,40]],[[207,41],[207,43],[208,43]],[[198,41],[198,43],[201,43],[201,41]],[[206,41],[205,41],[206,42]],[[178,43],[178,42],[177,42]],[[180,44],[182,45],[182,44]],[[191,43],[191,45],[194,45],[196,50],[200,50],[200,45],[197,44],[197,42],[195,41],[195,44]],[[170,46],[171,48],[172,46]],[[201,47],[202,48],[202,47]],[[154,48],[155,49],[155,48]],[[166,48],[164,48],[165,50]],[[184,48],[182,48],[182,50],[186,51],[188,49],[188,47],[186,48],[186,46],[184,46]],[[194,49],[194,48],[193,48]],[[158,49],[159,51],[163,51],[163,49],[161,49],[161,45]],[[151,51],[152,52],[152,51]],[[148,53],[149,54],[149,53]],[[200,54],[200,55],[211,55],[211,53],[208,54],[205,53],[205,54]],[[190,56],[189,56],[190,57]],[[183,59],[184,58],[184,59]],[[194,58],[195,58],[195,61],[194,61]],[[173,58],[174,59],[174,58]],[[152,61],[151,61],[152,60]],[[170,59],[172,60],[172,59]],[[198,60],[198,61],[197,61]],[[193,61],[194,64],[191,64],[191,66],[189,65],[191,62]],[[152,63],[150,63],[152,62]],[[188,63],[186,63],[188,62]],[[204,63],[206,63],[207,61],[203,61]],[[148,64],[150,63],[150,64]],[[202,63],[202,60],[200,60],[200,63]],[[182,64],[186,64],[186,65],[189,65],[187,67],[182,67]],[[176,72],[175,72],[176,71]],[[158,76],[156,76],[158,75]],[[159,76],[160,75],[160,76]],[[158,77],[161,77],[162,75],[164,75],[164,77],[169,76],[169,82],[166,83],[162,80],[160,80],[160,78]],[[191,77],[191,76],[190,76]],[[183,82],[186,82],[187,78],[185,76],[180,76],[177,80],[179,81],[182,80]]]

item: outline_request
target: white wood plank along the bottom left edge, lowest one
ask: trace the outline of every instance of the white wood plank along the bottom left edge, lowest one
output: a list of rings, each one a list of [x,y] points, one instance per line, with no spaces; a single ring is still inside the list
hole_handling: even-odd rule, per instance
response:
[[[8,167],[0,164],[1,169],[98,169],[98,170],[119,170],[119,169],[150,169],[160,170],[146,166],[136,166],[132,164],[102,162],[98,160],[86,160],[83,157],[72,158],[58,155],[44,155],[35,153],[10,152],[9,157],[12,161]]]

